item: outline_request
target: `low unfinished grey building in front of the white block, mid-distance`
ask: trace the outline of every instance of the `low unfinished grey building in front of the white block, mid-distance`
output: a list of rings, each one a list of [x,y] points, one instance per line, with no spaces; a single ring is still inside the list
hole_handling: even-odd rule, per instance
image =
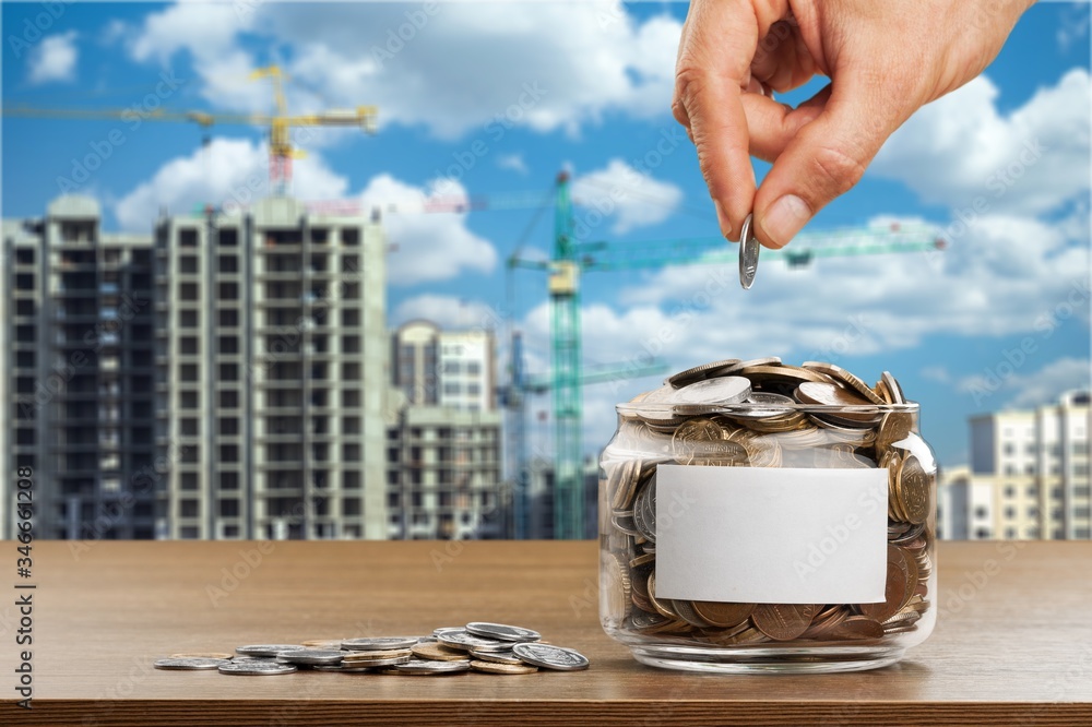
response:
[[[408,405],[397,391],[391,397],[402,401],[387,430],[389,537],[510,537],[501,414]]]

